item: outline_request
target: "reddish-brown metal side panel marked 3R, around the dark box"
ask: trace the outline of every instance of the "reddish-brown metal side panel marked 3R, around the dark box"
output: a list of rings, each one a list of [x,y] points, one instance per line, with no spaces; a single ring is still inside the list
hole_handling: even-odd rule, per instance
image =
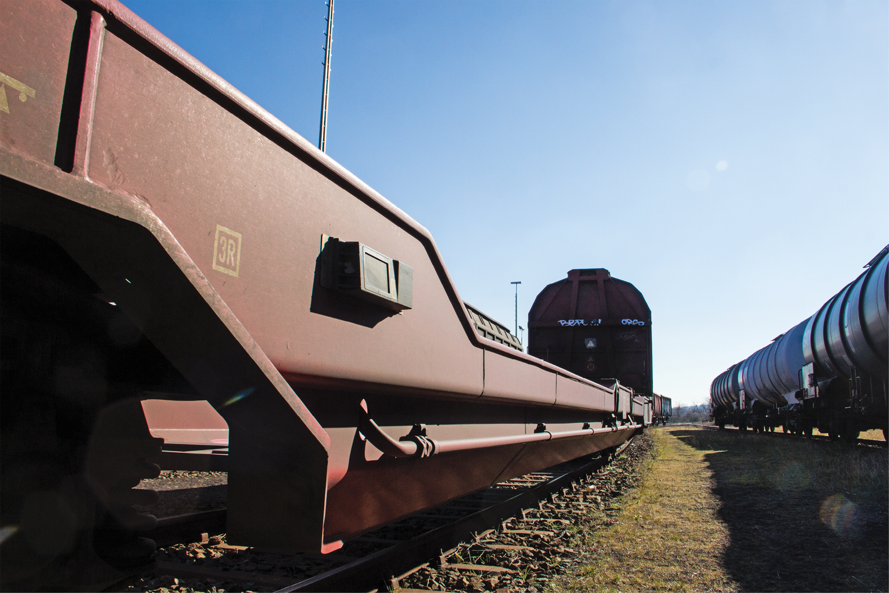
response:
[[[92,14],[75,172],[82,172],[101,186],[156,211],[291,381],[297,384],[330,380],[387,384],[388,381],[389,385],[407,383],[413,389],[479,395],[483,389],[480,347],[508,357],[512,353],[480,342],[471,331],[465,311],[454,307],[459,297],[428,232],[181,52],[132,12],[112,2],[98,3],[96,8],[108,19],[109,28],[129,41],[114,32],[104,34],[101,27],[104,20],[98,12]],[[134,74],[140,78],[135,79]],[[103,80],[108,84],[103,84]],[[207,84],[210,89],[206,88]],[[233,148],[232,153],[216,152],[215,159],[208,158],[221,146]],[[203,161],[198,157],[192,162],[202,151]],[[268,182],[252,188],[245,181],[255,180],[250,177],[251,172],[232,166],[237,157],[243,157],[257,174],[268,173]],[[212,164],[208,164],[211,161]],[[208,188],[205,180],[196,179],[220,172],[224,173],[220,175],[220,188]],[[348,183],[331,183],[336,178]],[[294,190],[282,192],[283,188]],[[282,197],[282,194],[292,195]],[[245,199],[248,195],[255,199]],[[244,204],[251,205],[245,207]],[[270,210],[260,212],[257,206],[261,204],[268,204]],[[269,311],[298,309],[282,305],[290,305],[289,295],[307,292],[305,276],[297,277],[290,284],[277,277],[281,265],[292,267],[292,254],[302,254],[296,263],[306,267],[308,285],[315,296],[316,285],[311,276],[316,250],[314,232],[312,239],[307,240],[300,232],[294,232],[301,227],[293,228],[292,221],[284,219],[280,228],[274,225],[267,228],[268,220],[282,218],[275,214],[284,208],[308,206],[310,209],[313,204],[316,212],[317,208],[323,211],[319,212],[318,220],[327,220],[326,214],[331,210],[341,212],[339,221],[344,224],[340,229],[354,229],[356,237],[367,236],[365,240],[375,242],[380,249],[390,253],[401,251],[420,261],[425,267],[417,270],[417,276],[425,278],[426,284],[418,286],[417,291],[426,293],[426,313],[396,320],[380,319],[376,312],[366,310],[355,316],[338,310],[352,309],[343,303],[319,299],[311,303],[317,305],[313,311],[316,315],[270,323],[269,319],[276,316]],[[258,225],[260,219],[262,223]],[[244,224],[239,226],[241,220]],[[324,224],[319,222],[317,226]],[[300,225],[310,226],[311,219],[300,220]],[[238,261],[231,262],[236,265],[228,272],[212,265],[217,226],[233,231],[235,234],[230,236],[236,237],[239,243]],[[207,227],[206,232],[201,230],[203,227]],[[403,237],[393,243],[391,237],[399,234],[399,228],[409,231],[413,240],[405,241]],[[252,243],[250,238],[256,236],[257,229],[273,240],[262,245]],[[251,235],[242,231],[249,231]],[[212,239],[208,239],[207,232]],[[240,261],[241,257],[244,261]],[[224,265],[218,267],[225,268]],[[442,317],[448,310],[452,311],[450,320]],[[436,311],[434,320],[420,318],[429,311]],[[348,325],[318,317],[345,320]],[[292,340],[297,325],[307,327],[303,322],[308,322],[312,332],[328,334],[330,340],[325,343],[354,343],[356,349],[347,352],[305,349],[301,342]],[[429,323],[436,325],[436,333],[443,337],[436,343],[450,341],[452,345],[463,343],[475,348],[435,349],[423,343],[420,349],[411,349],[413,344],[404,343],[404,335],[417,335],[418,327]],[[373,324],[376,324],[372,327],[375,331],[366,332],[365,329],[370,329],[367,326]],[[366,351],[362,347],[368,341],[375,347],[392,344],[394,351],[380,352],[380,355],[387,355],[389,360],[393,356],[410,358],[410,370],[415,372],[401,368],[400,373],[390,373],[380,369],[376,363],[382,356],[370,361],[356,359],[356,353]],[[407,352],[412,356],[408,357]],[[418,352],[429,361],[434,359],[434,364],[413,364]],[[526,364],[549,367],[533,357],[520,359]],[[477,372],[468,373],[473,366]],[[460,373],[452,372],[458,368]]]

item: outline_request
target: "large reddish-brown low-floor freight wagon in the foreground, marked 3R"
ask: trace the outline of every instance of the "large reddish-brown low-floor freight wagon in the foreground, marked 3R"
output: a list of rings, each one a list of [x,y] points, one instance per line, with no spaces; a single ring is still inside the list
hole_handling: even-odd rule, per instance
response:
[[[483,336],[425,228],[124,5],[6,0],[0,48],[0,587],[150,559],[143,401],[224,419],[230,543],[315,552],[651,417],[643,326],[626,385]]]

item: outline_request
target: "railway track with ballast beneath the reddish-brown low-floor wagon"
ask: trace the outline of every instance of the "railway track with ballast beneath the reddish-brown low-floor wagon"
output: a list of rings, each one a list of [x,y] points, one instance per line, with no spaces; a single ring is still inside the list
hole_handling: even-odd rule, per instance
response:
[[[496,590],[497,582],[518,577],[545,581],[541,566],[552,567],[546,558],[572,561],[564,536],[573,519],[602,504],[595,482],[608,470],[597,472],[634,440],[604,457],[562,463],[406,517],[327,555],[229,546],[211,536],[224,528],[224,510],[162,519],[152,533],[163,547],[154,570],[114,590],[228,591],[236,584],[236,591],[259,593],[365,593],[435,590],[436,584],[453,590],[445,589],[449,582]]]

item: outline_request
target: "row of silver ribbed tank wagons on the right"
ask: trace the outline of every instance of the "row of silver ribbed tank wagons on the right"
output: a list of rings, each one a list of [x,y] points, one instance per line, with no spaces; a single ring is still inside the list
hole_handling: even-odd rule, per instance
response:
[[[887,267],[889,245],[812,317],[720,373],[710,385],[720,428],[889,437]]]

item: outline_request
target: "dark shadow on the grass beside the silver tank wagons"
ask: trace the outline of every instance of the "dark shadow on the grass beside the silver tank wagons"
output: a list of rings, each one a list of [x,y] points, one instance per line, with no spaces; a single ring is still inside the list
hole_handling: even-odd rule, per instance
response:
[[[743,591],[889,593],[889,490],[879,483],[889,454],[741,432],[670,432],[709,452],[718,514],[731,536],[725,570]],[[865,476],[862,487],[861,472],[876,472],[876,482]]]

